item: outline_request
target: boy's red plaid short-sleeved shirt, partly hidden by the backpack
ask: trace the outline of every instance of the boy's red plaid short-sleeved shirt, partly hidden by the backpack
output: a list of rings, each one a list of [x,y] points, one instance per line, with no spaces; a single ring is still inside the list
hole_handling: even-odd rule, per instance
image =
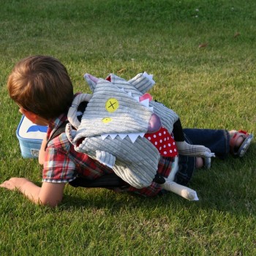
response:
[[[66,120],[67,116],[64,115],[56,118],[48,127],[47,138],[50,138],[50,135]],[[170,157],[161,157],[158,173],[164,177],[169,176],[172,162],[173,159]],[[91,159],[88,155],[75,151],[64,132],[48,143],[45,151],[42,181],[68,183],[78,176],[93,180],[108,173],[113,173],[113,170]],[[128,186],[125,189],[116,188],[113,190],[116,192],[136,192],[140,195],[154,196],[159,193],[161,187],[159,184],[153,182],[150,187],[143,189]]]

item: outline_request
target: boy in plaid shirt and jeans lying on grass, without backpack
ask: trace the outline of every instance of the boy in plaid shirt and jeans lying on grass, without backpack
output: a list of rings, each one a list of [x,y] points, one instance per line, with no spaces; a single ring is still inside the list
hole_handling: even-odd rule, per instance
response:
[[[34,124],[48,126],[39,154],[39,162],[43,165],[42,187],[27,178],[10,178],[0,185],[7,189],[18,189],[34,203],[57,206],[62,200],[66,184],[75,187],[108,187],[116,192],[154,196],[161,193],[162,189],[171,190],[165,184],[173,181],[186,186],[195,167],[209,166],[211,155],[189,157],[179,154],[176,158],[160,156],[156,178],[148,187],[138,188],[116,176],[112,167],[103,165],[88,154],[75,151],[65,132],[48,143],[58,127],[67,121],[67,113],[74,99],[67,69],[50,56],[30,56],[19,61],[10,74],[8,90],[10,97],[20,107],[20,113]],[[213,152],[221,158],[229,152],[243,157],[253,138],[243,131],[184,129],[183,132],[187,141],[182,142],[184,145],[202,145],[209,148],[206,152]],[[187,148],[181,152],[185,154],[185,151]],[[159,181],[162,178],[163,183]]]

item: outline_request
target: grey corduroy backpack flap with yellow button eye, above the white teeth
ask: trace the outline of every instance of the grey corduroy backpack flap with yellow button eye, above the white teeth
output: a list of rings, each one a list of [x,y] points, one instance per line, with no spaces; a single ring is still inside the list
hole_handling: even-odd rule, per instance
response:
[[[108,111],[108,100],[115,99],[118,108]],[[110,105],[110,108],[111,105]],[[84,137],[114,133],[146,133],[152,111],[107,80],[99,80],[89,100],[74,141]],[[104,118],[110,121],[103,122]]]

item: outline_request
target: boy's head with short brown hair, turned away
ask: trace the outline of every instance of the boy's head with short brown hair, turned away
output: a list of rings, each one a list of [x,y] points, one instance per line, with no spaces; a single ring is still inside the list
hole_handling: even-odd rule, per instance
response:
[[[45,119],[58,117],[72,104],[73,86],[67,69],[50,56],[30,56],[19,61],[7,87],[21,108]]]

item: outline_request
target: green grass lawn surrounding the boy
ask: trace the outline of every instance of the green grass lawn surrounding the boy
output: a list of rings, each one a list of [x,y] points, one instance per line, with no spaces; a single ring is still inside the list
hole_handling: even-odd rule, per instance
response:
[[[60,59],[75,91],[83,74],[154,74],[151,89],[184,127],[256,133],[255,0],[2,1],[0,182],[41,182],[20,156],[18,107],[7,76],[19,59]],[[66,186],[59,208],[0,189],[0,255],[256,255],[256,146],[243,159],[214,159],[189,184],[198,202]]]

